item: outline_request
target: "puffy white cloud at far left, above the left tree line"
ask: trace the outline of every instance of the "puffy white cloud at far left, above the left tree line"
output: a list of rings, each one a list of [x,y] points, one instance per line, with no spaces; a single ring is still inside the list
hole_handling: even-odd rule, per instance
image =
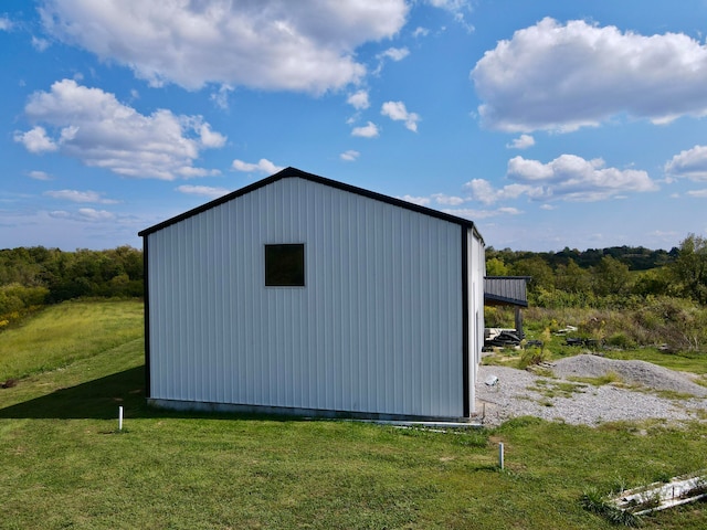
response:
[[[149,116],[119,103],[99,88],[63,80],[50,92],[36,92],[24,108],[35,126],[17,132],[15,141],[34,153],[56,151],[86,166],[125,177],[173,180],[214,174],[194,168],[202,149],[222,147],[225,137],[211,130],[200,116],[176,116],[158,109]]]

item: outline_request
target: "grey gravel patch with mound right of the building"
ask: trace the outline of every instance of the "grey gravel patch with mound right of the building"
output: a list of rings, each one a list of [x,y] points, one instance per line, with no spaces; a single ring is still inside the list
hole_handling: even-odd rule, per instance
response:
[[[484,425],[499,425],[511,417],[530,415],[570,424],[662,418],[666,422],[707,417],[707,389],[688,375],[643,361],[612,361],[577,356],[552,367],[555,378],[506,367],[479,367],[477,412]],[[615,384],[594,386],[567,383],[567,378],[598,378],[613,371],[631,389]],[[486,382],[497,378],[496,384]],[[668,399],[655,391],[669,390],[694,398]]]

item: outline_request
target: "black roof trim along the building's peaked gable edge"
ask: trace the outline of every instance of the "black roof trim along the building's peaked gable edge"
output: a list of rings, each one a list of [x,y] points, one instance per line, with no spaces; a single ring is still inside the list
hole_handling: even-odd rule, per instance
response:
[[[162,221],[161,223],[158,223],[154,226],[150,226],[149,229],[145,229],[140,232],[138,232],[137,235],[145,237],[146,235],[149,235],[154,232],[157,232],[159,230],[162,230],[167,226],[170,226],[172,224],[179,223],[180,221],[183,221],[186,219],[189,219],[193,215],[197,215],[201,212],[204,212],[207,210],[211,210],[214,206],[218,206],[220,204],[223,204],[224,202],[229,202],[232,199],[235,199],[236,197],[241,197],[241,195],[245,195],[246,193],[250,193],[252,191],[255,191],[260,188],[263,188],[267,184],[272,184],[273,182],[276,182],[278,180],[282,179],[287,179],[287,178],[299,178],[299,179],[304,179],[304,180],[309,180],[312,182],[317,182],[319,184],[324,184],[324,186],[328,186],[331,188],[336,188],[338,190],[342,190],[342,191],[348,191],[350,193],[356,193],[358,195],[362,195],[362,197],[367,197],[369,199],[373,199],[377,201],[381,201],[381,202],[386,202],[388,204],[392,204],[399,208],[403,208],[405,210],[412,210],[413,212],[418,212],[418,213],[422,213],[424,215],[430,215],[432,218],[436,218],[436,219],[441,219],[443,221],[449,221],[450,223],[454,223],[454,224],[458,224],[461,226],[465,226],[466,229],[473,230],[474,234],[482,241],[482,243],[484,242],[484,239],[482,237],[482,235],[479,234],[478,230],[476,230],[476,225],[474,224],[473,221],[469,221],[467,219],[463,219],[463,218],[457,218],[456,215],[451,215],[449,213],[444,213],[444,212],[440,212],[439,210],[433,210],[431,208],[425,208],[425,206],[421,206],[418,204],[413,204],[412,202],[408,202],[408,201],[403,201],[402,199],[395,199],[394,197],[389,197],[389,195],[383,195],[382,193],[377,193],[374,191],[370,191],[370,190],[366,190],[363,188],[357,188],[356,186],[351,186],[351,184],[346,184],[344,182],[339,182],[336,180],[331,180],[331,179],[326,179],[324,177],[319,177],[317,174],[313,174],[313,173],[307,173],[305,171],[302,171],[299,169],[296,168],[285,168],[282,171],[278,171],[275,174],[272,174],[270,177],[266,177],[263,180],[258,180],[257,182],[253,182],[252,184],[246,186],[245,188],[241,188],[240,190],[235,190],[229,194],[225,194],[223,197],[220,197],[213,201],[207,202],[205,204],[202,204],[201,206],[197,206],[192,210],[189,210],[184,213],[181,213],[175,218],[168,219],[167,221]]]

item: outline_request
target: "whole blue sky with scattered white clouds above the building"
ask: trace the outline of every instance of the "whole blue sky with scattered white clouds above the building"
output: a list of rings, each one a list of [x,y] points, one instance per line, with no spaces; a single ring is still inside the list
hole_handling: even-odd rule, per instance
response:
[[[293,166],[516,251],[707,232],[707,1],[0,3],[0,247],[137,232]]]

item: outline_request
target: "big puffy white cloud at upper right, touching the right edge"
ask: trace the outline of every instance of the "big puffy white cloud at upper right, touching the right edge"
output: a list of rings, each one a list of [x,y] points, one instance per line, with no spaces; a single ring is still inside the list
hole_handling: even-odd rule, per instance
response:
[[[487,51],[471,77],[483,123],[506,131],[707,114],[707,46],[682,33],[644,36],[546,18]]]

